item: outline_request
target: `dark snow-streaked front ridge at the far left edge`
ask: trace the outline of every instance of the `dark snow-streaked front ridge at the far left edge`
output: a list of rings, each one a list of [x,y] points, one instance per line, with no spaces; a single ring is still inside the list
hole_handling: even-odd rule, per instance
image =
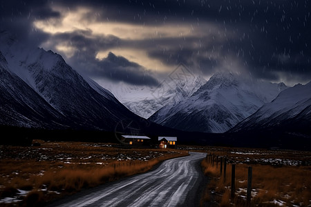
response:
[[[66,128],[69,121],[8,70],[0,52],[0,125]]]

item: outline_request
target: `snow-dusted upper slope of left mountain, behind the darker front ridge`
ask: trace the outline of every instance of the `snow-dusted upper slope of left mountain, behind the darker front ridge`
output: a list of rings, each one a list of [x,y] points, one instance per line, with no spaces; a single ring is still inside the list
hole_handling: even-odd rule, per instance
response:
[[[74,128],[111,130],[122,119],[138,119],[109,91],[86,81],[52,51],[23,45],[8,32],[0,34],[0,51],[8,71],[70,119]]]

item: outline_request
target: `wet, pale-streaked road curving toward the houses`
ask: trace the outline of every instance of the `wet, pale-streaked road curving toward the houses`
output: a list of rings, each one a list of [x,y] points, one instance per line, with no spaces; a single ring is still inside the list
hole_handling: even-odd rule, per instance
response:
[[[202,181],[202,152],[163,161],[156,170],[68,197],[53,206],[194,206]]]

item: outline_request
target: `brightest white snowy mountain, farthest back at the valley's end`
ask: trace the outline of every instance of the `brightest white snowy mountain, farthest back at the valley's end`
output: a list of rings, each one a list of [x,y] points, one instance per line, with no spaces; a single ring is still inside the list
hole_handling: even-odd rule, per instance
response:
[[[115,84],[108,81],[100,85],[110,90],[129,110],[140,117],[148,118],[160,108],[171,107],[182,99],[190,97],[206,80],[189,76],[187,79],[165,79],[159,86],[133,86],[124,82]]]

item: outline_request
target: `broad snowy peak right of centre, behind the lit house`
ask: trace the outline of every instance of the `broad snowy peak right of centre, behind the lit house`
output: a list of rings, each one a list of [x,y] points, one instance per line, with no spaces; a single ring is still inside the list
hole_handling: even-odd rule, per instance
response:
[[[149,120],[180,130],[225,132],[287,88],[232,72],[216,72],[191,97],[163,107]]]

